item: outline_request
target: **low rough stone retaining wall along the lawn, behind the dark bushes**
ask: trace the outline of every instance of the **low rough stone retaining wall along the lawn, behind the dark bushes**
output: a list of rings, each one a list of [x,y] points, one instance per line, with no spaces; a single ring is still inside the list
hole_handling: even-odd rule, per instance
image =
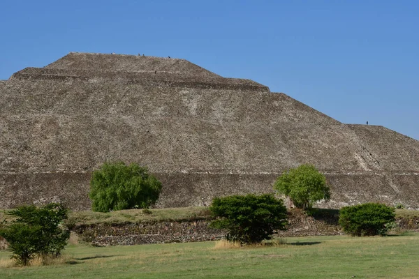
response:
[[[324,210],[323,210],[324,211]],[[306,216],[299,210],[288,212],[288,229],[276,232],[274,236],[328,236],[341,235],[339,216],[333,211],[324,211],[318,216]],[[152,243],[173,243],[213,241],[223,239],[225,232],[208,227],[210,220],[189,220],[178,222],[139,224],[99,224],[76,226],[73,231],[82,241],[95,246],[135,245]],[[397,231],[419,232],[419,218],[397,218]]]

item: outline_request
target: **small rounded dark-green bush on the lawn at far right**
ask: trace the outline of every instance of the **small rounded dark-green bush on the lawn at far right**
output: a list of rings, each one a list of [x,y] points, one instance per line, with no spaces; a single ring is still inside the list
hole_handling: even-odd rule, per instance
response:
[[[383,235],[394,222],[395,209],[385,204],[345,206],[339,216],[339,225],[352,236]]]

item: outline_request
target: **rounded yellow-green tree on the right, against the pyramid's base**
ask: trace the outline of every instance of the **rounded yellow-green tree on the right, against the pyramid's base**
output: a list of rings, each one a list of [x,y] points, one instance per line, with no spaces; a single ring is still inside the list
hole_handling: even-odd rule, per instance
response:
[[[300,165],[278,177],[274,189],[289,197],[300,209],[311,209],[314,202],[330,199],[330,188],[314,165]]]

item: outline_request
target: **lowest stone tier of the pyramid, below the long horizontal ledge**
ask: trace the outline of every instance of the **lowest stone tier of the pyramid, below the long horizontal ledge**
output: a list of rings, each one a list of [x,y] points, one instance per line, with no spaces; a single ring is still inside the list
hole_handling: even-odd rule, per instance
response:
[[[157,208],[208,206],[214,197],[272,193],[279,173],[154,173],[163,183]],[[91,209],[88,197],[91,172],[0,173],[0,209],[22,204],[64,202],[75,211]],[[419,209],[418,174],[326,174],[330,202],[318,207],[340,209],[365,202],[403,204]],[[289,204],[291,205],[291,204]]]

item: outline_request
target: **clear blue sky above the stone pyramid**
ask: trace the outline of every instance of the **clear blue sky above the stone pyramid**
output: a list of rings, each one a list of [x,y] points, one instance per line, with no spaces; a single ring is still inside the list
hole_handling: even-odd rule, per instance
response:
[[[403,0],[2,0],[0,80],[71,51],[170,55],[419,140],[418,15]]]

